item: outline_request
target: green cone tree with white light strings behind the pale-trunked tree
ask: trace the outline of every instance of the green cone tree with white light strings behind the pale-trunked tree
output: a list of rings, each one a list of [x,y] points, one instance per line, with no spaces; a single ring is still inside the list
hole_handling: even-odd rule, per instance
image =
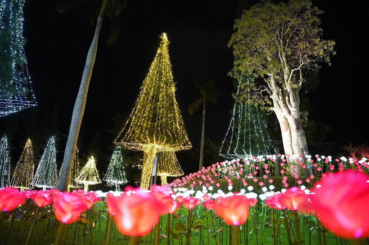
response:
[[[252,74],[247,74],[242,81],[238,81],[231,122],[220,149],[221,156],[234,159],[251,155],[275,154],[269,134],[266,132],[268,126],[265,114],[257,107],[237,101],[241,84],[249,82],[251,78]]]

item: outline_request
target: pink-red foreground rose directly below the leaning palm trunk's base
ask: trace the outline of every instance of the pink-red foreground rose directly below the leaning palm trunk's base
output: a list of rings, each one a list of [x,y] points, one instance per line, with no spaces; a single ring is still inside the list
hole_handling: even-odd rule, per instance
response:
[[[56,219],[66,224],[75,222],[88,209],[85,200],[77,193],[58,192],[51,197]]]

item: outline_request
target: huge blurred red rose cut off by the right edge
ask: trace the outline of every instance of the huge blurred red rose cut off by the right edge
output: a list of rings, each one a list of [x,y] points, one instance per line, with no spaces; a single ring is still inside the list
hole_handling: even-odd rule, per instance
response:
[[[310,200],[314,211],[320,215],[321,223],[334,234],[344,238],[369,236],[368,175],[357,171],[342,171],[323,178],[316,185]]]

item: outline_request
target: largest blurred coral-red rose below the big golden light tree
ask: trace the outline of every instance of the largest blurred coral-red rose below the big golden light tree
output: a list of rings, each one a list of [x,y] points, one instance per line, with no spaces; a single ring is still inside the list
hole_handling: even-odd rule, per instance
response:
[[[126,196],[108,196],[108,212],[124,235],[142,237],[152,230],[168,208],[152,192],[137,191]]]

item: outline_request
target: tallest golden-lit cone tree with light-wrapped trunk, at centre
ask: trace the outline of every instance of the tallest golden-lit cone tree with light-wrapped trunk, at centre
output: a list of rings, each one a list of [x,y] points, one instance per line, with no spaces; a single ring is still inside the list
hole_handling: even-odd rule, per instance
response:
[[[142,83],[128,120],[115,140],[132,150],[143,150],[141,187],[148,188],[153,160],[158,152],[191,148],[175,96],[169,41],[166,33]]]

